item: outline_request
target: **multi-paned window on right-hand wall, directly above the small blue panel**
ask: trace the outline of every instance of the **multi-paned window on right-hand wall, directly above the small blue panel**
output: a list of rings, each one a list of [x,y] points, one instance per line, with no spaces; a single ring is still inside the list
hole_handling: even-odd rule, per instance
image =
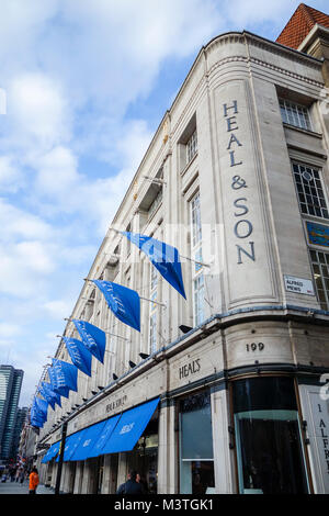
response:
[[[320,170],[308,165],[293,162],[293,173],[300,212],[305,215],[329,218]]]

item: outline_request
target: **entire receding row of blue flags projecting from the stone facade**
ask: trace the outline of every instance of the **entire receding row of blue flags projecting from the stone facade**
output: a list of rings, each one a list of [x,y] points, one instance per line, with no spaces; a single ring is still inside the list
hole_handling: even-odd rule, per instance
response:
[[[178,249],[138,233],[122,232],[122,234],[145,253],[160,274],[186,299]],[[138,293],[111,281],[93,280],[93,283],[104,295],[114,315],[122,323],[140,332],[140,298]],[[106,346],[105,332],[84,321],[72,319],[72,322],[81,340],[63,337],[72,363],[53,359],[52,367],[48,368],[49,383],[42,382],[38,388],[38,394],[44,400],[35,396],[31,408],[31,424],[33,426],[43,426],[47,419],[48,405],[55,410],[55,404],[61,406],[60,396],[68,397],[70,391],[77,392],[78,369],[91,377],[92,356],[103,363]]]

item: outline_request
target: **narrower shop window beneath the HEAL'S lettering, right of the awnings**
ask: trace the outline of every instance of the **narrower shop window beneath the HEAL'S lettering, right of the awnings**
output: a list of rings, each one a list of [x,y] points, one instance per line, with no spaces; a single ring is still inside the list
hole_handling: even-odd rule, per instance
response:
[[[215,491],[211,394],[203,392],[180,401],[180,492]]]

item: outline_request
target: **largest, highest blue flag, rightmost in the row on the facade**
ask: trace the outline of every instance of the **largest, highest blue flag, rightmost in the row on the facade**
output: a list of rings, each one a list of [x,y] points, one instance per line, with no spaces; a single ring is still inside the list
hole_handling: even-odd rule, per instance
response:
[[[123,232],[123,235],[143,250],[164,280],[186,299],[182,266],[177,248],[150,236],[139,235],[139,233]]]

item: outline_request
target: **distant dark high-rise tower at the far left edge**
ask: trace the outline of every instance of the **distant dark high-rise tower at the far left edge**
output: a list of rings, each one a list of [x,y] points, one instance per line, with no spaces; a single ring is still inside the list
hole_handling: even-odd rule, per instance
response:
[[[0,460],[12,458],[24,371],[0,366]]]

